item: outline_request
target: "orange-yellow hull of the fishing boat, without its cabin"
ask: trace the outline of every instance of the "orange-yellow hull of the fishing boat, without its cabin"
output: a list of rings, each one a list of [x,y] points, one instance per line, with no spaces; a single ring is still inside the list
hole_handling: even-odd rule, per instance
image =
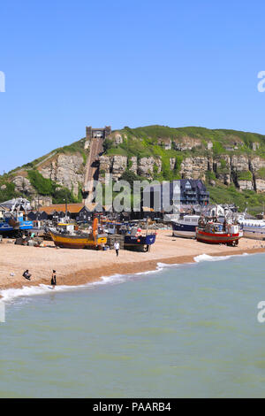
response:
[[[107,243],[106,235],[97,235],[94,240],[90,235],[63,235],[52,230],[49,233],[55,245],[64,249],[98,249]]]

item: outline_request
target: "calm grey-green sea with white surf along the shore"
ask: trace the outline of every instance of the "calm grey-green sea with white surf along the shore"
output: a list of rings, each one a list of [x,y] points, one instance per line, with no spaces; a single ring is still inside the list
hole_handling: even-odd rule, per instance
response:
[[[265,254],[194,259],[0,292],[0,397],[265,397]]]

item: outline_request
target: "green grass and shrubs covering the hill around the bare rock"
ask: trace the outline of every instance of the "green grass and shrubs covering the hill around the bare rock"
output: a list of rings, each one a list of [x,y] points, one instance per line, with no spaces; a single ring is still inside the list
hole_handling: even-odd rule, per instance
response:
[[[122,136],[122,143],[117,143],[114,140],[115,135]],[[36,174],[31,172],[36,171],[38,166],[42,166],[46,159],[56,158],[58,154],[62,153],[79,153],[83,156],[85,165],[87,161],[87,151],[84,150],[85,140],[85,138],[82,138],[70,145],[52,150],[49,154],[41,158],[36,158],[34,161],[24,166],[19,166],[10,173],[1,176],[0,201],[9,199],[12,196],[18,196],[13,183],[11,183],[11,179],[21,172],[27,174],[36,192],[40,192],[41,189],[42,193],[45,191],[45,195],[49,195],[49,193],[55,195],[56,183],[52,183],[49,180],[41,181],[42,178],[40,179],[40,177],[36,180]],[[183,143],[193,141],[195,145],[192,149],[186,149],[183,145]],[[171,144],[167,147],[165,145],[166,143]],[[114,131],[110,139],[105,141],[104,150],[105,154],[109,156],[122,155],[128,158],[161,158],[162,172],[155,172],[155,179],[161,181],[174,180],[181,177],[179,174],[181,163],[184,158],[188,157],[219,158],[220,166],[218,167],[218,173],[223,174],[226,173],[227,169],[222,155],[259,156],[265,159],[265,135],[237,130],[208,129],[205,127],[124,127]],[[170,169],[170,158],[176,159],[176,166],[173,170]],[[258,174],[261,178],[265,178],[265,168],[261,168]],[[251,180],[251,176],[249,171],[244,171],[239,173],[238,179],[247,181]],[[214,172],[207,172],[206,178],[212,202],[234,202],[239,205],[240,210],[245,209],[247,205],[249,211],[262,211],[263,204],[265,204],[265,194],[256,194],[253,190],[239,191],[234,185],[225,186],[222,181],[218,180],[218,174]],[[216,182],[215,186],[211,186],[213,181]],[[62,189],[59,190],[59,196],[63,196],[64,191]],[[56,199],[60,200],[60,197]]]

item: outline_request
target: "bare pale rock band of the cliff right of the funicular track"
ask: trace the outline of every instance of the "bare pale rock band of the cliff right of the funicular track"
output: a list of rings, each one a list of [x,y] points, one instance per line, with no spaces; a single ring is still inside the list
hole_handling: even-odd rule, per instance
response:
[[[176,167],[176,159],[170,158],[170,169]],[[207,173],[216,175],[216,180],[224,185],[234,183],[239,190],[253,189],[257,192],[265,191],[265,180],[259,178],[256,173],[265,167],[265,160],[261,158],[249,158],[247,156],[221,157],[189,157],[184,158],[180,165],[180,177],[184,179],[206,180]],[[162,161],[160,158],[127,158],[125,156],[100,157],[100,181],[112,174],[114,181],[120,179],[123,173],[129,170],[148,180],[155,179],[155,173],[161,173]],[[242,175],[241,175],[242,173]],[[245,173],[247,173],[245,175]],[[246,176],[246,179],[244,178]],[[241,178],[241,179],[240,179]],[[212,180],[212,185],[215,181]]]

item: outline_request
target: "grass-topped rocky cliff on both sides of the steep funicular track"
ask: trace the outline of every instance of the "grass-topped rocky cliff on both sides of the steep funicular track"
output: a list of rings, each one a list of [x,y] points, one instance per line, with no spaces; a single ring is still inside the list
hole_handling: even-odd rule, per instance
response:
[[[85,139],[12,172],[15,190],[36,197],[27,177],[34,168],[43,178],[79,195],[84,186],[89,143]],[[114,181],[130,171],[148,180],[202,179],[233,183],[239,190],[265,192],[265,136],[202,127],[139,127],[113,132],[98,160],[99,180]]]

